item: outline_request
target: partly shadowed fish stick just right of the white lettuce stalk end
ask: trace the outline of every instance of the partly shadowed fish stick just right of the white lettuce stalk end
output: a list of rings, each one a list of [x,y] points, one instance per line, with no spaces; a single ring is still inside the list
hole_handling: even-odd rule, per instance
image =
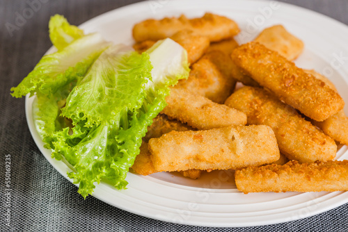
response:
[[[189,78],[180,80],[174,88],[190,90],[216,103],[223,103],[235,88],[236,81],[216,66],[216,61],[212,60],[219,56],[216,53],[219,51],[200,58],[191,66]]]

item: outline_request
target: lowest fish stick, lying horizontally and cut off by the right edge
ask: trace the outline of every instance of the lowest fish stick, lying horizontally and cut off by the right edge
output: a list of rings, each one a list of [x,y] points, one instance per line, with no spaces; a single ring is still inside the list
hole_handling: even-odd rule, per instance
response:
[[[348,190],[348,160],[246,167],[235,172],[241,192],[320,192]]]

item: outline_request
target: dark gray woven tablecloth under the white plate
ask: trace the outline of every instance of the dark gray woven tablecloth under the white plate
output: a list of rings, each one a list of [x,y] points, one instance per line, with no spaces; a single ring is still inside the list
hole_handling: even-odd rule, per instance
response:
[[[10,87],[28,74],[51,47],[47,22],[56,13],[78,25],[136,1],[40,0],[35,13],[10,31],[18,14],[38,0],[0,0],[0,231],[348,231],[348,204],[295,222],[249,228],[206,228],[160,222],[88,197],[54,169],[38,150],[26,124],[24,99]],[[285,1],[348,24],[348,1]],[[26,14],[30,14],[27,12]],[[348,38],[347,38],[348,39]],[[348,43],[348,40],[347,40]],[[10,155],[10,226],[6,226],[6,156]]]

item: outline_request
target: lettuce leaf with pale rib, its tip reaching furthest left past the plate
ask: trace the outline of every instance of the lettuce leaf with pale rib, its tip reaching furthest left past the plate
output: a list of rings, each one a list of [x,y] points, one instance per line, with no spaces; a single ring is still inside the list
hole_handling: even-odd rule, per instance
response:
[[[16,88],[13,97],[26,94],[54,94],[63,86],[83,77],[95,59],[109,46],[95,33],[75,40],[61,51],[43,56],[32,72]]]

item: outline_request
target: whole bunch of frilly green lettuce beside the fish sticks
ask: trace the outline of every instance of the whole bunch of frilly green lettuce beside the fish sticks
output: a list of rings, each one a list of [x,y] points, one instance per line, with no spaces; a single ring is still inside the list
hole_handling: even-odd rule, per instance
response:
[[[83,197],[102,180],[124,189],[169,87],[189,76],[187,52],[166,39],[139,54],[84,35],[57,15],[49,28],[58,51],[44,56],[12,95],[36,94],[38,133],[52,157],[70,165]]]

